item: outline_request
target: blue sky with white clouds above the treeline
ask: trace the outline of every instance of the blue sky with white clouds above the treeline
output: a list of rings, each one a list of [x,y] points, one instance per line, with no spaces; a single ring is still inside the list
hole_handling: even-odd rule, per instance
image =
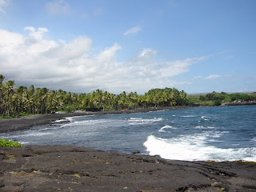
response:
[[[114,94],[256,91],[254,0],[0,0],[0,74]]]

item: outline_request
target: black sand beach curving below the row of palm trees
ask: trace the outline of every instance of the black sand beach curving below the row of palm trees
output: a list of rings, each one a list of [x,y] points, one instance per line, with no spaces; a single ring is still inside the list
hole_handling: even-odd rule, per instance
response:
[[[98,112],[79,112],[79,113],[66,113],[66,114],[39,114],[29,117],[22,118],[2,118],[0,119],[0,133],[28,130],[33,126],[41,126],[51,124],[56,120],[62,118],[70,118],[75,116],[86,116],[86,115],[102,115],[102,114],[131,114],[131,113],[146,113],[150,111],[158,110],[178,110],[185,109],[194,106],[167,106],[157,108],[146,108],[137,110],[112,110],[112,111],[98,111]]]

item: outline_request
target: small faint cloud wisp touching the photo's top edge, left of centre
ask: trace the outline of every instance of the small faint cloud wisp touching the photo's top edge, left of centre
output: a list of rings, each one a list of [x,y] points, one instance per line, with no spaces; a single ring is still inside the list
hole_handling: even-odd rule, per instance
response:
[[[53,2],[47,2],[46,10],[50,14],[66,14],[70,11],[70,4],[64,0],[54,0]]]

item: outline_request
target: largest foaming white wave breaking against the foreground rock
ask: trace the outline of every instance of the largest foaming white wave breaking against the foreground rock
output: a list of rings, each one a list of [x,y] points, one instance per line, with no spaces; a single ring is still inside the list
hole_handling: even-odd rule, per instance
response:
[[[157,138],[150,135],[144,146],[150,155],[183,161],[252,161],[256,162],[256,147],[221,149],[207,146],[208,134],[182,135],[180,138]]]

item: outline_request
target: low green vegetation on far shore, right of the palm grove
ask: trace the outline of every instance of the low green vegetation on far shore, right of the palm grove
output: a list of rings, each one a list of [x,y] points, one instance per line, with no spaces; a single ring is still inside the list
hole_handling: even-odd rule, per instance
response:
[[[256,93],[252,94],[226,94],[225,92],[217,93],[212,92],[210,94],[200,94],[189,96],[188,101],[190,104],[202,104],[203,106],[220,106],[222,103],[230,103],[234,101],[255,101],[256,100]]]

